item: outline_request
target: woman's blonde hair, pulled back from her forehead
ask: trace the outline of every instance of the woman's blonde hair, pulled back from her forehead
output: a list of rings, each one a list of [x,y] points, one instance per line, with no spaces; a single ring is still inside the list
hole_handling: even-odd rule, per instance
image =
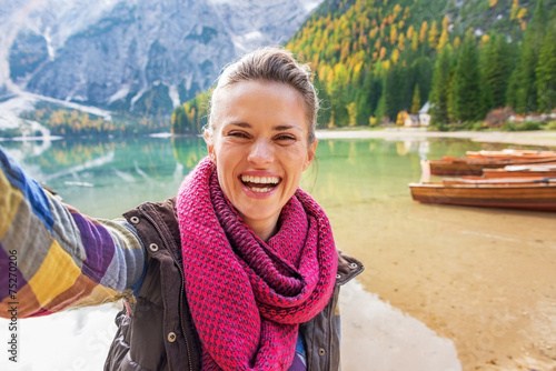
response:
[[[319,102],[312,84],[311,70],[307,64],[300,64],[290,51],[279,47],[257,49],[224,69],[210,98],[210,113],[208,123],[203,128],[205,134],[208,134],[209,139],[214,136],[216,122],[212,113],[218,98],[226,88],[254,80],[286,83],[301,94],[309,123],[308,141],[309,144],[312,143],[316,140]]]

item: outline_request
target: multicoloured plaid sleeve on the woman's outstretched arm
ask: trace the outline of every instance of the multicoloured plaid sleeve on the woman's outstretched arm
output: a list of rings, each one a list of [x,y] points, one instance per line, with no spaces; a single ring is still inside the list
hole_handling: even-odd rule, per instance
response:
[[[123,220],[64,205],[0,148],[0,317],[37,317],[131,295],[145,253]]]

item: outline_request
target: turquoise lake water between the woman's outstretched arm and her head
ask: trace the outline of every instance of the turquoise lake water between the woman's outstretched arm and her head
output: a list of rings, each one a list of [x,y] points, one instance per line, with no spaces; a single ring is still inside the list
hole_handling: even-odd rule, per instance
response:
[[[173,195],[205,151],[198,137],[3,142],[2,147],[64,202],[105,218]]]

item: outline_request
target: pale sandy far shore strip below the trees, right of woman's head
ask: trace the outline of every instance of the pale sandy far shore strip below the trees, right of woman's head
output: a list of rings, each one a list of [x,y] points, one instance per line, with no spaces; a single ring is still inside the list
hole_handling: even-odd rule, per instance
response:
[[[556,131],[426,131],[421,128],[395,128],[385,130],[330,129],[317,130],[317,139],[426,139],[466,138],[476,142],[508,143],[522,146],[556,147]]]

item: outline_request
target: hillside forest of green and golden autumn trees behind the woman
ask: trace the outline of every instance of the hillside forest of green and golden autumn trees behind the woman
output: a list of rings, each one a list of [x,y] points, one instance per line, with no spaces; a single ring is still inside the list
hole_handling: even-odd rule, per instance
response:
[[[477,128],[556,107],[555,2],[327,0],[286,47],[316,72],[321,127],[391,122],[428,101],[436,127]],[[175,132],[200,128],[207,97],[175,111]]]

